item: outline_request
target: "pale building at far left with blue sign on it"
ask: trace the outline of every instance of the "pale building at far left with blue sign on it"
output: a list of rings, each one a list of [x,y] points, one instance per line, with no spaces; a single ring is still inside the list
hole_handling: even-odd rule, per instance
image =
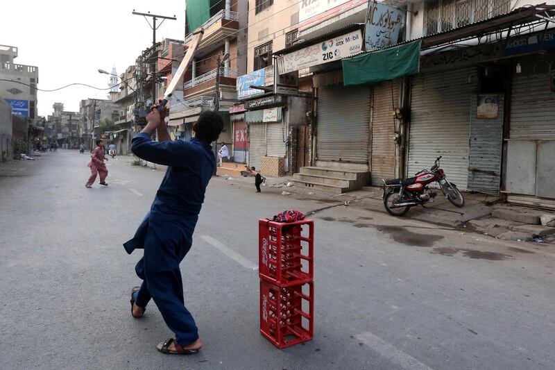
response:
[[[37,117],[39,68],[20,65],[17,47],[0,45],[0,98],[12,106],[12,114],[34,120]]]

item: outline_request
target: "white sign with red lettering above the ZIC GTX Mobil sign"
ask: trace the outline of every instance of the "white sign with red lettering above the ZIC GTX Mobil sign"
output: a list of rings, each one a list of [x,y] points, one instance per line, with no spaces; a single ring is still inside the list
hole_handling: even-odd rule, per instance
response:
[[[302,0],[299,4],[299,31],[367,2],[368,0]]]

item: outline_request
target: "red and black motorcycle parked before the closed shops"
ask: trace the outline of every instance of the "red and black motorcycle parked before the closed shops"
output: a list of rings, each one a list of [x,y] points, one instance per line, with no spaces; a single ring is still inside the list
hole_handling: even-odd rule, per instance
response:
[[[382,179],[384,208],[390,215],[402,216],[415,205],[424,206],[426,203],[432,203],[437,193],[432,192],[428,185],[434,182],[452,205],[463,207],[463,194],[454,183],[445,178],[445,172],[439,167],[441,158],[443,156],[436,158],[432,167],[421,169],[414,177]]]

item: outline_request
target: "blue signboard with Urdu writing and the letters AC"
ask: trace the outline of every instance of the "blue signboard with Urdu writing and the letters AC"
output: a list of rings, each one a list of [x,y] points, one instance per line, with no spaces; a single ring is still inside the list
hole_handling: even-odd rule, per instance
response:
[[[397,44],[404,24],[404,12],[384,3],[368,2],[368,18],[364,32],[366,51]]]

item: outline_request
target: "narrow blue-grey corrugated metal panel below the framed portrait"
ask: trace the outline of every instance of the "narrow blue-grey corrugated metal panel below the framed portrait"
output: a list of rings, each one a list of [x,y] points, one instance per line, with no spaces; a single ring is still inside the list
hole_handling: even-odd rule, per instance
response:
[[[497,119],[477,119],[477,95],[472,94],[468,190],[499,195],[503,142],[503,95],[499,94]]]

